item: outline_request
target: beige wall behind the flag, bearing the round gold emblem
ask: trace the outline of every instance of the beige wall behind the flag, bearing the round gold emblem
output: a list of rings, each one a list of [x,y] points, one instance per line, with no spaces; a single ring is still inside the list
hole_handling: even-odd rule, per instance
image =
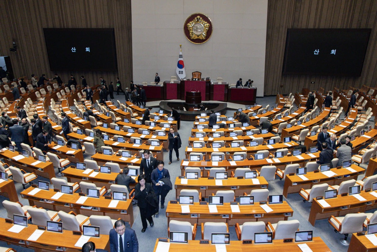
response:
[[[267,0],[132,0],[133,80],[163,80],[176,75],[179,44],[186,78],[193,71],[202,77],[222,77],[236,83],[249,78],[264,93]],[[211,38],[191,43],[183,25],[191,14],[206,14],[213,23]]]

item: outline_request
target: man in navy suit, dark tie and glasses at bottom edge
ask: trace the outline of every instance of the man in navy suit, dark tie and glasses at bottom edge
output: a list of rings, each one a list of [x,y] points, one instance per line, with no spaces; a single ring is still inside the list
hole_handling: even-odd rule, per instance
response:
[[[138,252],[139,242],[135,230],[126,228],[123,220],[117,220],[110,230],[110,252]],[[118,245],[119,244],[119,245]]]

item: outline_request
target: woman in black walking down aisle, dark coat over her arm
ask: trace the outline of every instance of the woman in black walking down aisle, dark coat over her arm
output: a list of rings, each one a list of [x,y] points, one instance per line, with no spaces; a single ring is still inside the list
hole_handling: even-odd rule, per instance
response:
[[[144,233],[148,227],[147,220],[151,227],[154,225],[152,216],[148,214],[148,203],[146,201],[146,196],[153,191],[153,188],[150,183],[146,183],[144,174],[139,175],[138,182],[135,186],[135,199],[138,200],[141,223],[143,224],[141,232]]]

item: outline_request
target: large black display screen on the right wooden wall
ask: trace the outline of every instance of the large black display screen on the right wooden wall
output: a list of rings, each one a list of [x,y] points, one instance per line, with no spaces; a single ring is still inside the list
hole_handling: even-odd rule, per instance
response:
[[[371,29],[288,29],[283,74],[360,76]]]

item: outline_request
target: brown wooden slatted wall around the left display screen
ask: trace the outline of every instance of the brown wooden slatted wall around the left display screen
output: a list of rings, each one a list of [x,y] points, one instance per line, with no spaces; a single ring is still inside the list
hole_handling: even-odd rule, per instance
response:
[[[11,57],[15,77],[53,77],[43,28],[114,28],[118,71],[57,73],[65,83],[71,73],[77,81],[85,75],[89,85],[120,77],[123,89],[132,80],[131,0],[1,0],[0,13],[0,56]],[[9,51],[12,41],[17,52]]]

